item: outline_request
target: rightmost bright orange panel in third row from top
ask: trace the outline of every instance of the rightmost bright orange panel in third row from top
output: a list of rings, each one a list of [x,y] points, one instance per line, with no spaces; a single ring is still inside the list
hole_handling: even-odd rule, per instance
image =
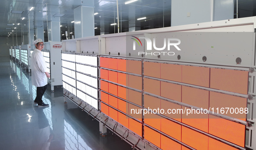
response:
[[[244,147],[245,125],[209,116],[209,133]]]

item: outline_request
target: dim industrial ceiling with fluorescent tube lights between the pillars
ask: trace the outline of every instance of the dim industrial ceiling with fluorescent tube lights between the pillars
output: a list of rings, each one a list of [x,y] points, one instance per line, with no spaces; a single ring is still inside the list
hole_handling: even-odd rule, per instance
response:
[[[44,28],[47,32],[47,19],[51,21],[56,18],[60,18],[62,32],[74,32],[74,25],[71,23],[74,20],[74,9],[84,5],[86,1],[88,0],[1,0],[0,36],[8,36],[12,30],[14,30],[15,36],[26,35],[29,32],[29,22],[31,30]],[[95,35],[100,34],[100,28],[103,26],[102,20],[104,20],[105,31],[109,33],[115,32],[114,28],[112,29],[109,25],[117,22],[117,0],[92,1],[94,3],[94,12],[99,13],[94,17],[95,27],[98,28],[95,29]],[[118,0],[119,19],[123,25],[122,32],[128,31],[129,15],[135,15],[136,19],[147,17],[146,21],[145,19],[136,21],[142,22],[136,23],[142,29],[159,28],[163,27],[163,24],[170,26],[171,0],[137,0],[136,2],[125,4],[126,1],[129,0]],[[34,10],[29,11],[31,7],[34,7]],[[16,14],[11,13],[11,11],[21,11],[23,13]],[[64,16],[54,17],[55,14],[64,14]],[[23,17],[25,19],[22,20]],[[18,23],[20,24],[18,25]],[[14,25],[7,26],[7,24]],[[14,29],[15,27],[16,29]]]

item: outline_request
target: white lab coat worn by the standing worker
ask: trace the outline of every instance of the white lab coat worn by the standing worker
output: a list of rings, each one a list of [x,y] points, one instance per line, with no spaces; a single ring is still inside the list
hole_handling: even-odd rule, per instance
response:
[[[45,86],[47,84],[47,77],[45,75],[45,72],[45,58],[43,57],[42,52],[39,49],[35,48],[31,55],[32,85],[36,87]]]

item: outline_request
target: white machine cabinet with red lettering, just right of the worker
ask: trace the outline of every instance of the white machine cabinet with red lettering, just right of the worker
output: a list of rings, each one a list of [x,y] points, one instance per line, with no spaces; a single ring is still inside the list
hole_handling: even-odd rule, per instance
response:
[[[44,44],[42,53],[47,71],[51,75],[48,78],[48,83],[51,85],[52,92],[54,92],[54,86],[62,85],[62,42],[49,41]]]

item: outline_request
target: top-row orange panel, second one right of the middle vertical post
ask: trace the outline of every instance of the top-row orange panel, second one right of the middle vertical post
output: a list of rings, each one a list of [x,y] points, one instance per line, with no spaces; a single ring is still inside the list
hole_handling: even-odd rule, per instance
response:
[[[161,79],[181,82],[181,65],[161,64]]]

